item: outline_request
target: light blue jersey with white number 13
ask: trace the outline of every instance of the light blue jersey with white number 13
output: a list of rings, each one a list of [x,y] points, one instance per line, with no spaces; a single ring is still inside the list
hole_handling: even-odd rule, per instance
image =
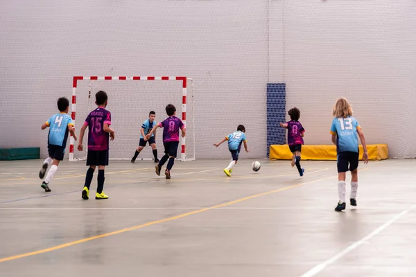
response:
[[[357,129],[361,129],[356,118],[349,116],[346,118],[333,118],[331,134],[336,135],[336,151],[358,152]]]

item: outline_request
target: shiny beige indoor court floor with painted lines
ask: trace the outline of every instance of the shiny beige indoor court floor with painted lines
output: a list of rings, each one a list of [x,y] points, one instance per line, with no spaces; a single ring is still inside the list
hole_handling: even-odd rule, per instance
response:
[[[2,161],[1,275],[416,274],[413,160],[361,164],[358,206],[343,213],[335,161],[304,161],[302,178],[288,161],[253,172],[250,160],[228,178],[224,162],[177,163],[166,180],[151,161],[115,161],[110,199],[84,201],[84,162],[65,162],[45,195],[39,161]]]

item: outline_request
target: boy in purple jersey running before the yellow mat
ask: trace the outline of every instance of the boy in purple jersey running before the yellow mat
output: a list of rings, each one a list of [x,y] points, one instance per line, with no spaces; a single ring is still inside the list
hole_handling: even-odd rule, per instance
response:
[[[291,121],[280,123],[280,126],[288,129],[288,145],[293,153],[292,167],[296,165],[297,171],[299,171],[299,175],[302,177],[305,170],[300,167],[300,154],[302,152],[302,144],[304,144],[303,136],[305,129],[298,121],[300,110],[297,107],[289,109],[288,114],[291,116]]]

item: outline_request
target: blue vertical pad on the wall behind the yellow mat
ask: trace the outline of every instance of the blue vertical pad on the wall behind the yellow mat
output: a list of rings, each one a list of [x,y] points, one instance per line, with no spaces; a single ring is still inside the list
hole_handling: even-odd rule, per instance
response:
[[[286,121],[286,84],[268,83],[267,103],[267,157],[270,145],[286,143],[286,129],[279,123]]]

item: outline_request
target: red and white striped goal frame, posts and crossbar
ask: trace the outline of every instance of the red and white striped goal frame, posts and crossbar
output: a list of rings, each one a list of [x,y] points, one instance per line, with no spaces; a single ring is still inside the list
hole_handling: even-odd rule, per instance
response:
[[[191,80],[185,76],[73,76],[72,82],[72,104],[71,104],[71,118],[75,123],[76,120],[76,90],[78,81],[80,80],[132,80],[132,81],[144,81],[144,80],[177,80],[182,82],[182,122],[185,127],[187,126],[187,84]],[[75,140],[70,135],[69,138],[69,161],[76,161],[73,157]],[[195,159],[191,157],[190,159]],[[181,141],[181,161],[186,161],[186,138],[182,138]]]

